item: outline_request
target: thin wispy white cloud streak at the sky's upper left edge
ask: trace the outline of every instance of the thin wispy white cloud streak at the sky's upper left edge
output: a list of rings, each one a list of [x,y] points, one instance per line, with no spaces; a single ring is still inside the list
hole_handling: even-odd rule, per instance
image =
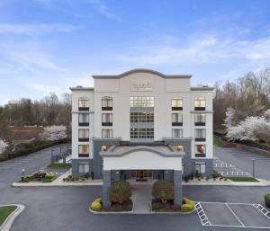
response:
[[[17,35],[41,35],[51,32],[71,32],[79,27],[64,24],[27,24],[27,23],[0,23],[0,34],[17,34]]]

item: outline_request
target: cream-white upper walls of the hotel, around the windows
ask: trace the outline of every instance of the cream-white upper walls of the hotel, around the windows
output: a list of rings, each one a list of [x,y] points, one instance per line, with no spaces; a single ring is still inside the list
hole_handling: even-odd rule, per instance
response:
[[[119,76],[94,76],[94,88],[71,88],[72,159],[77,161],[94,159],[94,152],[96,150],[94,149],[93,138],[100,138],[105,144],[106,138],[103,138],[103,129],[112,129],[112,138],[117,138],[121,142],[157,142],[168,140],[170,138],[174,140],[186,138],[191,142],[190,155],[192,159],[199,159],[200,161],[203,159],[212,159],[213,88],[191,87],[190,79],[191,76],[188,75],[165,76],[151,70],[135,69]],[[107,96],[112,97],[112,111],[103,111],[102,99]],[[130,97],[132,96],[153,97],[154,99],[154,107],[152,109],[154,113],[153,139],[140,138],[136,140],[130,138]],[[79,99],[82,98],[89,100],[89,110],[87,111],[79,111],[78,102]],[[182,100],[182,110],[175,111],[175,108],[172,108],[174,99]],[[200,99],[200,101],[198,101],[198,99]],[[195,108],[197,105],[195,105],[195,103],[199,103],[198,105],[201,105],[201,108]],[[102,119],[103,113],[112,114],[110,115],[112,124],[109,124],[108,126],[104,125]],[[195,116],[198,116],[197,114],[199,113],[201,113],[204,122],[201,122],[200,125],[198,125],[198,123],[195,125]],[[79,114],[86,114],[89,116],[89,125],[79,126]],[[173,114],[177,115],[173,116]],[[180,119],[176,119],[177,123],[173,124],[173,117]],[[178,120],[181,120],[182,124],[180,124]],[[89,141],[78,141],[79,129],[89,129]],[[173,129],[181,130],[173,131]],[[195,129],[201,130],[195,131]],[[195,139],[195,133],[199,134],[200,137]],[[173,138],[173,134],[180,134],[181,137]],[[174,141],[174,144],[177,143],[175,142],[176,141]],[[181,145],[181,142],[179,144]],[[79,145],[88,145],[89,155],[83,157],[81,155],[79,156]],[[199,147],[196,147],[196,145],[199,145]],[[199,148],[199,150],[202,151],[202,145],[205,146],[203,147],[206,150],[205,155],[197,156],[197,149]],[[145,156],[145,158],[148,157],[148,155]],[[122,157],[122,161],[124,160],[125,158]],[[124,161],[123,163],[129,164],[129,161]],[[125,169],[128,169],[128,166]],[[130,169],[134,169],[134,167],[131,167],[131,163]]]

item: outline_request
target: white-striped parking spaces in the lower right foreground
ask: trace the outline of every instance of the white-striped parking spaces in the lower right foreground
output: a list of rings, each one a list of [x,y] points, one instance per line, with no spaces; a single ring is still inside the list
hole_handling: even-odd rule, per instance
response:
[[[198,201],[195,208],[203,227],[270,228],[270,211],[260,204]]]

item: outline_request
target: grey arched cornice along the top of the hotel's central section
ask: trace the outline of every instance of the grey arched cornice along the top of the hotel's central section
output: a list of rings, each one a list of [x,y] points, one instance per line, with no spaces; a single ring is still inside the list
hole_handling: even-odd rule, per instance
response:
[[[132,69],[130,71],[121,73],[120,75],[109,75],[109,76],[103,76],[103,75],[94,75],[93,78],[95,79],[106,79],[106,78],[112,78],[112,79],[119,79],[122,78],[124,76],[128,76],[134,73],[150,73],[156,76],[160,76],[163,78],[190,78],[192,77],[192,75],[165,75],[163,73],[160,73],[158,71],[154,71],[151,69],[144,69],[144,68],[137,68],[137,69]]]

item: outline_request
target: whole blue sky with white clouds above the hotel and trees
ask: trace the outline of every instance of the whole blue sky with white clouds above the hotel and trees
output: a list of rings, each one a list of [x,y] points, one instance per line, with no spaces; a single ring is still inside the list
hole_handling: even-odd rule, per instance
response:
[[[0,1],[0,104],[137,67],[212,85],[269,61],[268,0]]]

